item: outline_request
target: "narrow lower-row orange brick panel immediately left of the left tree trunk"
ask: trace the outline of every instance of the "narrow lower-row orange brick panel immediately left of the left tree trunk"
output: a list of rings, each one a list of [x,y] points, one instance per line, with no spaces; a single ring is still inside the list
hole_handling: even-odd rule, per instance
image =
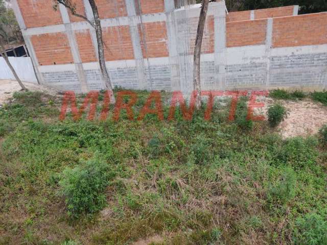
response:
[[[97,61],[89,30],[75,31],[75,36],[82,62]]]

